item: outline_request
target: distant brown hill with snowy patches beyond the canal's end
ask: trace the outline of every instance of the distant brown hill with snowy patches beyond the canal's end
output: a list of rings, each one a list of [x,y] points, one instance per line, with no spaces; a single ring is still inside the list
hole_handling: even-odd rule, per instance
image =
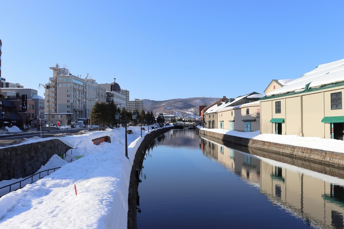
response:
[[[143,99],[144,110],[153,111],[154,114],[165,113],[169,115],[195,115],[199,116],[199,106],[214,103],[220,98],[195,97],[186,99],[171,99],[164,101]]]

